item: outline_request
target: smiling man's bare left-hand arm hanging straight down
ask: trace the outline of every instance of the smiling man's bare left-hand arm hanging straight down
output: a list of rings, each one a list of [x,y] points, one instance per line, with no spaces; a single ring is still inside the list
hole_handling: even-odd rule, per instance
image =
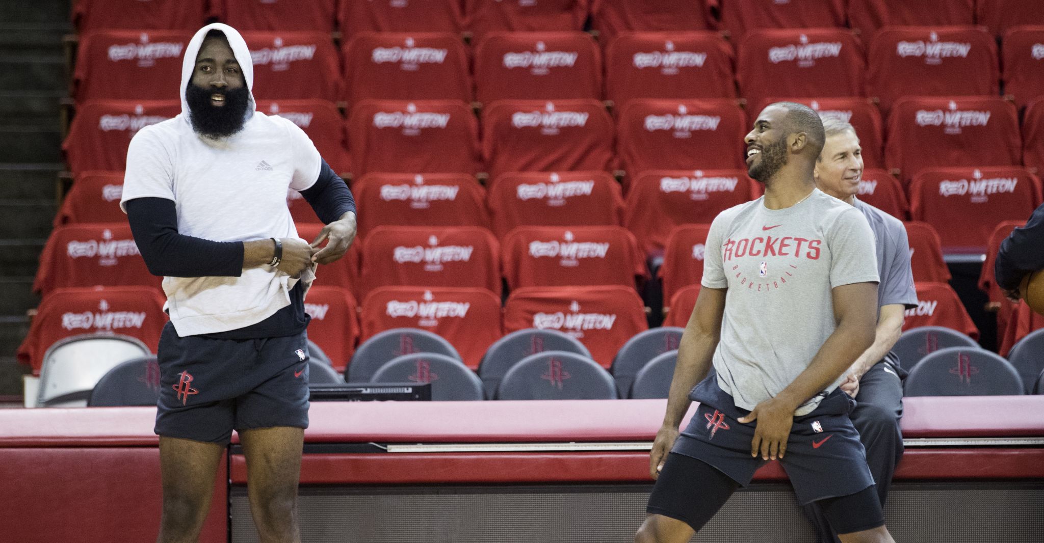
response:
[[[714,349],[721,338],[726,292],[727,289],[699,289],[696,305],[685,326],[685,332],[682,334],[674,376],[670,380],[667,396],[667,411],[649,455],[649,473],[652,477],[658,476],[670,447],[678,439],[679,425],[692,403],[689,391],[704,380],[710,371]]]

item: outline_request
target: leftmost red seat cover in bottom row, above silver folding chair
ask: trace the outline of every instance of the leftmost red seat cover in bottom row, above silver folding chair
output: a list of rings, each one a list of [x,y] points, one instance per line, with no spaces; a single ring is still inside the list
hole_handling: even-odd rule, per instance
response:
[[[56,289],[44,296],[18,347],[18,362],[40,374],[47,348],[78,334],[119,334],[138,338],[156,352],[167,323],[163,292],[155,287]]]

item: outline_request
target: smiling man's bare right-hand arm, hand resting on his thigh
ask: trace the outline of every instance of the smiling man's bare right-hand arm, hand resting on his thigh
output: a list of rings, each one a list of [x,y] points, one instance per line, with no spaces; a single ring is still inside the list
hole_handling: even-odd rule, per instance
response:
[[[820,347],[812,362],[778,395],[759,403],[748,416],[737,419],[742,424],[759,417],[769,419],[769,424],[759,423],[755,429],[751,442],[752,456],[757,456],[760,450],[763,460],[783,458],[793,424],[793,413],[845,373],[874,343],[877,283],[841,285],[831,289],[830,294],[837,327]]]

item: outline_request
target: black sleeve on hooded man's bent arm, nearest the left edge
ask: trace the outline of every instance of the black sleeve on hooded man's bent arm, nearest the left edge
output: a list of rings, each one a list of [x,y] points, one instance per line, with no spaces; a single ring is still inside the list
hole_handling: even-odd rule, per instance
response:
[[[126,209],[134,241],[152,275],[242,275],[243,244],[182,236],[177,232],[177,209],[173,200],[135,198],[126,202]]]

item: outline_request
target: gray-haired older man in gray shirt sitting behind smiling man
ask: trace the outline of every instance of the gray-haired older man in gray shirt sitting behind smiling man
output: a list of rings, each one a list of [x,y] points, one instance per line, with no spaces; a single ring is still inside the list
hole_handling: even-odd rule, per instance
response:
[[[836,119],[825,119],[823,128],[827,139],[815,163],[815,186],[862,212],[877,244],[880,283],[874,344],[855,361],[840,388],[858,402],[851,414],[852,423],[867,449],[867,464],[883,507],[896,464],[903,454],[899,419],[903,414],[902,379],[906,372],[892,347],[902,334],[904,311],[917,306],[909,242],[902,221],[856,198],[862,154],[855,128]],[[816,503],[806,505],[805,511],[816,525],[821,543],[837,541]]]

